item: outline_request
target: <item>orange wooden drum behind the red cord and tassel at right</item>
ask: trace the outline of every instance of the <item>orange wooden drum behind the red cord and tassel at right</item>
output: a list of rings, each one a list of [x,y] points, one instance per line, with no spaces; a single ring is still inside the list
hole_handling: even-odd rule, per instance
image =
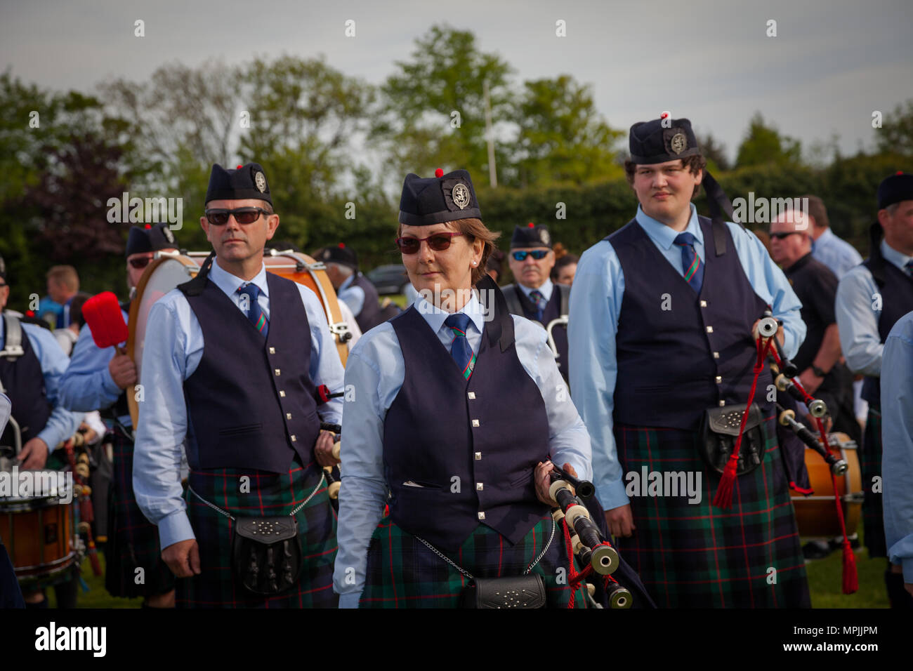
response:
[[[827,436],[831,451],[839,453],[848,468],[843,476],[837,476],[837,488],[844,508],[846,533],[852,535],[859,527],[862,512],[862,472],[859,469],[859,457],[856,456],[855,441],[846,434]],[[820,442],[820,441],[819,441]],[[792,495],[792,505],[796,511],[796,524],[800,536],[821,536],[833,538],[841,536],[840,520],[834,506],[834,481],[831,479],[831,468],[821,455],[812,448],[805,448],[805,467],[808,469],[809,481],[814,494],[809,497]]]

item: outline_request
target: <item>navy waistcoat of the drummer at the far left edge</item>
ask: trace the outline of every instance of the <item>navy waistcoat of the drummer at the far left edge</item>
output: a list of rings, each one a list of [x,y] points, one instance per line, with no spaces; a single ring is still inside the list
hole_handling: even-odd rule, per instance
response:
[[[4,319],[0,316],[0,328],[5,328]],[[8,337],[8,336],[7,336]],[[32,349],[26,330],[22,330],[22,355],[9,360],[0,357],[0,381],[13,404],[12,416],[19,423],[22,432],[22,445],[40,434],[51,416],[51,406],[47,403],[45,376],[41,372],[41,363]],[[2,444],[13,445],[13,427],[6,425]],[[47,446],[54,449],[56,446]]]

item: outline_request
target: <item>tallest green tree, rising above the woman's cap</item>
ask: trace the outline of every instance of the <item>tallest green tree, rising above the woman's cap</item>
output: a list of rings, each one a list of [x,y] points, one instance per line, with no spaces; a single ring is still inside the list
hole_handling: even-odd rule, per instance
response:
[[[428,174],[437,167],[488,168],[484,86],[488,81],[495,123],[509,117],[511,68],[497,54],[484,53],[469,31],[432,26],[415,40],[407,61],[382,90],[373,138],[390,156],[394,173]],[[503,145],[498,145],[498,162]]]

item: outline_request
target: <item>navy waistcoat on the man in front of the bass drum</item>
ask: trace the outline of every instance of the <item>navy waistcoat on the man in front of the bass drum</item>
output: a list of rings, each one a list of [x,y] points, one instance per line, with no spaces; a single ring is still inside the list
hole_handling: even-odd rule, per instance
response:
[[[267,273],[269,333],[264,339],[208,279],[187,296],[203,329],[203,358],[184,381],[193,469],[255,468],[285,473],[302,465],[320,433],[310,380],[310,326],[298,285]]]

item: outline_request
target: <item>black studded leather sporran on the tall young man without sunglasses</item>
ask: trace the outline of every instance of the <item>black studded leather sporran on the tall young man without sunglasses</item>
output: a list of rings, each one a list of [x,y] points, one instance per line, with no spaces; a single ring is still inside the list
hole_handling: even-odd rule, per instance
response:
[[[739,437],[742,414],[747,405],[710,408],[701,421],[698,452],[708,467],[722,474]],[[764,426],[761,407],[751,404],[739,447],[736,475],[743,476],[764,460]]]

